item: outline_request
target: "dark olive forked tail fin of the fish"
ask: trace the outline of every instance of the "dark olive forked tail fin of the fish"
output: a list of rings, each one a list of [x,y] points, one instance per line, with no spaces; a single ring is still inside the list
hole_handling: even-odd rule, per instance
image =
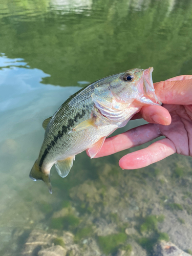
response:
[[[46,185],[48,186],[49,193],[52,194],[50,176],[46,175],[40,171],[39,165],[37,164],[37,160],[35,161],[32,169],[31,169],[29,177],[34,181],[43,180],[46,183]]]

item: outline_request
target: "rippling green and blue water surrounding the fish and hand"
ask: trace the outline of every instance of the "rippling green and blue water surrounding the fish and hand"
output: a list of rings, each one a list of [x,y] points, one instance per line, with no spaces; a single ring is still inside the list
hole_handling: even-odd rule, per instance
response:
[[[121,170],[135,149],[81,153],[67,178],[53,167],[52,195],[28,177],[42,121],[81,87],[134,67],[153,66],[154,82],[192,74],[191,10],[186,0],[0,0],[1,255],[151,255],[161,239],[192,250],[189,157]]]

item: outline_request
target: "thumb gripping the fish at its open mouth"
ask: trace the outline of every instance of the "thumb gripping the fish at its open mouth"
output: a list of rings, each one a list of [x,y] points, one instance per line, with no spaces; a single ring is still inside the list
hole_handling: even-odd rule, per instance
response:
[[[178,76],[154,83],[155,93],[164,104],[188,105],[192,103],[192,76]]]

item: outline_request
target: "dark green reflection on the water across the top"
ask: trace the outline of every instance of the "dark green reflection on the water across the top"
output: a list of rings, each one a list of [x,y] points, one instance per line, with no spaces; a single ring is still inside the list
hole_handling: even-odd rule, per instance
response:
[[[3,3],[1,52],[51,74],[44,83],[71,86],[133,67],[153,66],[154,81],[191,73],[191,1]]]

